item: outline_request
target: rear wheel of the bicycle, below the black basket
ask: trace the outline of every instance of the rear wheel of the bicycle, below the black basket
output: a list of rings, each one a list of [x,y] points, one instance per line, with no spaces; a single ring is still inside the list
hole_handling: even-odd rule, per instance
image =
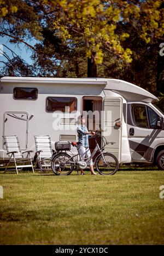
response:
[[[67,153],[58,153],[51,160],[52,171],[56,175],[69,175],[72,173],[74,164],[71,163],[72,158]]]

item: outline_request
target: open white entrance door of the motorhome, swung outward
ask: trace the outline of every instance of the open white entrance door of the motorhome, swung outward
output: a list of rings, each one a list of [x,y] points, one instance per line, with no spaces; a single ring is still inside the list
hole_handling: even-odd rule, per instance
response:
[[[116,126],[116,122],[122,122],[122,99],[103,98],[103,111],[101,119],[102,135],[108,142],[105,152],[113,153],[121,161],[121,132],[122,128]]]

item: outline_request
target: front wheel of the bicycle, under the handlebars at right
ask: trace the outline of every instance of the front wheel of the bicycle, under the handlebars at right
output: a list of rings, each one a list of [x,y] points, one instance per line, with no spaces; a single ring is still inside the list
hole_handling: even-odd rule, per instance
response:
[[[119,169],[118,159],[111,153],[103,153],[96,160],[96,170],[102,175],[113,175]]]

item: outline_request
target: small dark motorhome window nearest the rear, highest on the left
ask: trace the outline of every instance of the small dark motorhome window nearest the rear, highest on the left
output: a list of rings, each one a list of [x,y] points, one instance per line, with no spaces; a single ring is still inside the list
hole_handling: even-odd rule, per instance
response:
[[[36,100],[38,96],[38,89],[27,87],[15,87],[13,96],[15,100]]]

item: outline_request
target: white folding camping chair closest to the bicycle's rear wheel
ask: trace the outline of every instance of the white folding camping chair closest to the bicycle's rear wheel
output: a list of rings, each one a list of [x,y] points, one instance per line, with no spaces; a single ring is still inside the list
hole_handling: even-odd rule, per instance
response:
[[[42,171],[51,169],[51,157],[53,155],[51,139],[49,135],[40,135],[34,136],[36,143],[36,153],[37,153],[37,161],[39,169]],[[34,169],[36,169],[36,164]],[[47,168],[48,167],[48,168]]]

